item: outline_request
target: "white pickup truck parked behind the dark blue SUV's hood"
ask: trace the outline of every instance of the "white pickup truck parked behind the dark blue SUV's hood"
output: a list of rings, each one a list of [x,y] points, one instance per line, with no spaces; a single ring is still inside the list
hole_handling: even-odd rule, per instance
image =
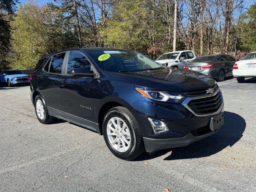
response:
[[[156,62],[158,62],[162,66],[168,67],[178,67],[183,69],[183,64],[181,61],[190,62],[196,58],[196,55],[193,51],[174,51],[162,54]],[[184,62],[182,62],[184,63]]]

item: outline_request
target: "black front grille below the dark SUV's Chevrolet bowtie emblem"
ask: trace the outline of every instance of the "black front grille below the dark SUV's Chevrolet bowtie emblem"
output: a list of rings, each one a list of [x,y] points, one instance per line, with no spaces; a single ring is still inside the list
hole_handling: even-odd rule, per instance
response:
[[[219,91],[214,96],[193,99],[188,102],[190,109],[198,115],[207,115],[217,112],[222,107],[222,96]]]

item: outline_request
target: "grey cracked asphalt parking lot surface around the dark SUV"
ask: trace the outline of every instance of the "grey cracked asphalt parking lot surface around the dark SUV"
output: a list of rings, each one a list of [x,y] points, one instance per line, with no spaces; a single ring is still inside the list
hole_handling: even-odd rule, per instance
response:
[[[216,134],[133,161],[86,128],[40,124],[29,86],[0,87],[0,191],[256,191],[256,79],[218,85],[225,123]]]

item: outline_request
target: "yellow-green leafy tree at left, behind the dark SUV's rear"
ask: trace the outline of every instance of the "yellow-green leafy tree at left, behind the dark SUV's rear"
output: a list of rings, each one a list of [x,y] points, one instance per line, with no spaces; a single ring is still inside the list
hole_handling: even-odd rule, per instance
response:
[[[20,6],[12,22],[12,51],[8,59],[13,68],[34,68],[38,59],[51,52],[73,46],[72,31],[68,21],[50,6],[36,4]]]

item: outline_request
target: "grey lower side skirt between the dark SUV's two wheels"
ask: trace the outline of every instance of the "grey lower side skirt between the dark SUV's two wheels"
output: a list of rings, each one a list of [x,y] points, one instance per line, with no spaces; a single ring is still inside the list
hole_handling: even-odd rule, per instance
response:
[[[54,116],[54,117],[63,119],[65,121],[80,125],[82,127],[96,131],[98,134],[100,134],[100,128],[99,128],[98,123],[68,114],[66,112],[60,111],[58,109],[54,109],[52,107],[47,107],[47,108],[48,108],[48,112],[49,112],[50,116]]]

